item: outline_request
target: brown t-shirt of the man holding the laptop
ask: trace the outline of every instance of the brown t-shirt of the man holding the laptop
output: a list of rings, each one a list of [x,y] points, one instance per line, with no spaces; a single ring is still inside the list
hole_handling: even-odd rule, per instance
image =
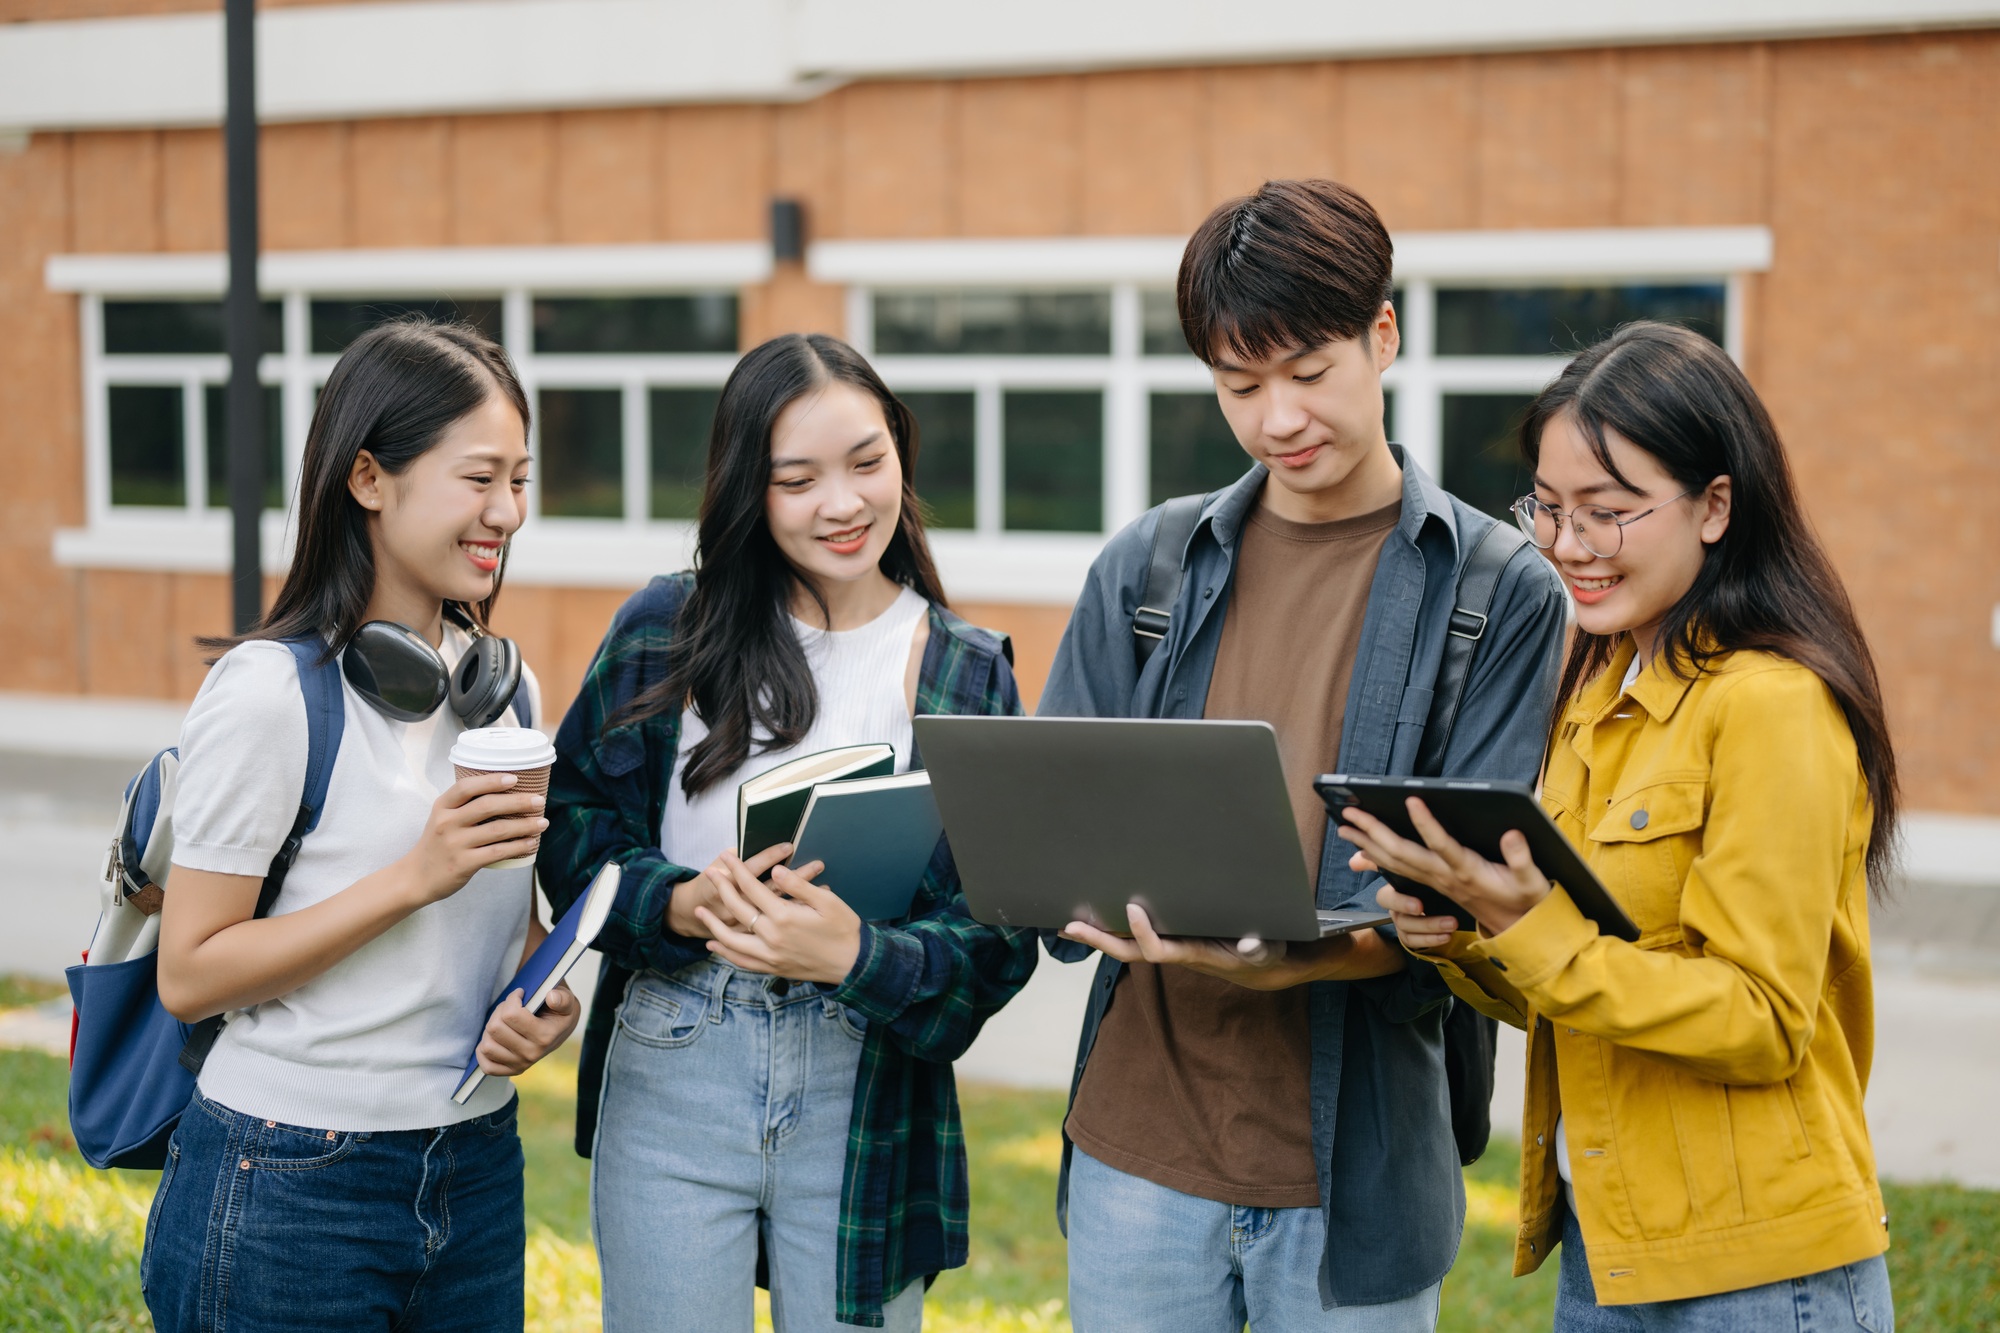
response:
[[[1326,807],[1312,779],[1340,757],[1354,648],[1382,542],[1402,504],[1338,522],[1244,524],[1204,717],[1278,731],[1298,841],[1318,877]],[[1084,1069],[1068,1133],[1098,1161],[1242,1207],[1312,1207],[1306,987],[1250,991],[1134,963]]]

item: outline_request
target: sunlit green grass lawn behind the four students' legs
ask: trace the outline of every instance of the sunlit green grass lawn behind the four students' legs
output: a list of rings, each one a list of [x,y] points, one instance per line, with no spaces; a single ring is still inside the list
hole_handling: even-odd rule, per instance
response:
[[[66,1129],[66,1077],[58,1057],[0,1051],[0,1325],[22,1333],[150,1327],[138,1295],[138,1249],[156,1177],[82,1165]],[[562,1053],[518,1085],[528,1155],[528,1327],[596,1329],[590,1169],[570,1147],[576,1067]],[[1066,1331],[1068,1269],[1054,1215],[1062,1095],[978,1085],[960,1095],[972,1157],[972,1261],[932,1287],[924,1327]],[[1496,1143],[1466,1173],[1466,1239],[1444,1281],[1446,1333],[1548,1327],[1554,1265],[1510,1277],[1518,1169],[1514,1147]],[[1898,1329],[2000,1329],[2000,1193],[1952,1185],[1892,1185],[1886,1193]]]

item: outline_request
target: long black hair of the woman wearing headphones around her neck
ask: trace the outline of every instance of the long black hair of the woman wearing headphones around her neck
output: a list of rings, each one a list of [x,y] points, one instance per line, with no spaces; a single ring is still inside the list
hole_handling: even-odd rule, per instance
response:
[[[226,652],[244,638],[326,638],[340,652],[362,626],[374,596],[374,544],[368,510],[348,492],[354,458],[366,448],[390,476],[400,476],[428,452],[452,422],[500,394],[528,426],[528,394],[498,342],[470,324],[408,314],[376,324],[340,354],[326,376],[306,432],[298,470],[298,546],[292,568],[256,628],[240,638],[202,638]],[[446,602],[446,616],[486,628],[506,548],[494,570],[494,590],[472,604]],[[212,660],[212,658],[210,658]]]

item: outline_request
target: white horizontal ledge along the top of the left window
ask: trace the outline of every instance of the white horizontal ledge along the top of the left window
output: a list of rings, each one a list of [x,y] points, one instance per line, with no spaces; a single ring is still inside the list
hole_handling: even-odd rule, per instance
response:
[[[440,246],[426,250],[272,250],[258,286],[266,292],[542,292],[674,290],[764,282],[772,272],[762,240],[660,246]],[[114,296],[214,296],[228,286],[222,254],[54,254],[46,280],[56,292]]]

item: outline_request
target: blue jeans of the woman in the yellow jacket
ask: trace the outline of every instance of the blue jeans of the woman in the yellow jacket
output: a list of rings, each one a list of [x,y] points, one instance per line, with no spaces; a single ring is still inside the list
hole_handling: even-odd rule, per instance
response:
[[[1598,1305],[1584,1233],[1564,1209],[1554,1333],[1896,1333],[1896,1307],[1882,1255],[1712,1297]]]

